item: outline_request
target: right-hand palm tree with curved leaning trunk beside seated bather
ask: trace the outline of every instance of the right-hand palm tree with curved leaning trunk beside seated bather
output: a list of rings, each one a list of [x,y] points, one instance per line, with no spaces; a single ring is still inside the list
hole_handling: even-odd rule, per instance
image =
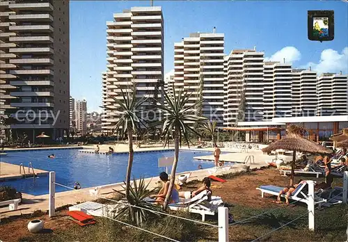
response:
[[[186,91],[183,92],[182,89],[179,92],[175,92],[175,87],[173,85],[173,96],[168,95],[166,92],[162,92],[164,100],[168,105],[160,105],[155,101],[155,106],[164,111],[164,119],[160,120],[158,123],[162,124],[162,136],[165,137],[164,147],[168,143],[171,136],[174,138],[175,144],[175,156],[173,167],[171,171],[171,181],[169,184],[168,193],[166,195],[166,200],[164,201],[164,209],[166,209],[168,200],[171,197],[172,189],[175,181],[175,172],[177,168],[177,161],[179,160],[179,144],[181,145],[182,140],[189,146],[189,133],[198,134],[198,132],[190,127],[189,122],[203,122],[204,117],[194,114],[193,109],[200,103],[200,101],[187,106],[189,102],[189,95]]]

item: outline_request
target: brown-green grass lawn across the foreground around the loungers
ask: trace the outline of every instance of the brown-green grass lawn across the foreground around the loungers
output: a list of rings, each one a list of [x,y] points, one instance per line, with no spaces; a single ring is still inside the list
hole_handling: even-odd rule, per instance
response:
[[[242,224],[230,225],[230,241],[253,241],[263,234],[271,232],[285,223],[307,213],[306,204],[296,203],[296,206],[275,204],[276,197],[262,198],[255,188],[264,184],[285,186],[289,178],[282,177],[275,169],[264,169],[250,174],[226,177],[228,181],[212,188],[214,195],[223,197],[226,206],[235,220],[240,221],[251,216],[269,211],[262,216],[247,220]],[[298,179],[314,179],[313,177],[296,177]],[[314,179],[322,181],[323,178]],[[335,179],[334,186],[342,184],[342,179]],[[199,184],[191,182],[186,189],[194,189]],[[79,227],[68,220],[66,209],[61,209],[58,216],[49,219],[46,214],[37,213],[33,216],[8,218],[0,222],[0,240],[2,241],[165,241],[158,236],[141,232],[121,225],[120,223],[97,218],[96,225]],[[200,216],[189,213],[175,213],[178,216],[195,218]],[[308,216],[264,236],[260,241],[346,241],[348,206],[335,205],[328,209],[315,211],[315,232],[308,230]],[[45,220],[46,234],[29,234],[26,225],[33,218]],[[207,223],[216,224],[216,218]],[[163,234],[177,241],[217,241],[217,229],[206,225],[193,224],[177,218],[158,216],[149,220],[144,226],[157,234]],[[7,231],[7,232],[6,232]],[[5,232],[5,233],[3,233]]]

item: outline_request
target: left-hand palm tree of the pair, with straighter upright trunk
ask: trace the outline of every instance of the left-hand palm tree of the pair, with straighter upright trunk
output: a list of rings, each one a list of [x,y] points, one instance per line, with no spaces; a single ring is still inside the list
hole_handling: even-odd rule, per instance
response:
[[[137,115],[137,111],[139,106],[141,106],[141,104],[143,104],[143,102],[145,102],[146,99],[145,98],[141,98],[139,100],[136,99],[135,86],[133,86],[133,88],[130,91],[127,91],[127,93],[124,93],[122,89],[120,90],[122,93],[122,99],[116,99],[115,97],[111,97],[116,102],[116,104],[119,105],[119,107],[117,108],[118,110],[116,110],[116,108],[108,108],[108,107],[104,107],[104,108],[109,111],[116,111],[116,113],[120,114],[120,117],[118,122],[116,123],[115,129],[119,130],[120,128],[122,128],[122,132],[127,131],[129,156],[128,156],[128,166],[127,166],[127,174],[126,174],[126,198],[130,204],[133,204],[134,201],[132,201],[132,197],[129,195],[130,179],[131,179],[133,157],[134,157],[133,133],[136,130],[139,130],[141,125],[145,126],[143,120]]]

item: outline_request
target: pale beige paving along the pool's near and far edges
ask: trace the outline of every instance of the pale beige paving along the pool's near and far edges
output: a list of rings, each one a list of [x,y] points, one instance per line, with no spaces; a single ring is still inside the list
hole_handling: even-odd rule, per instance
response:
[[[122,145],[126,146],[127,145]],[[93,148],[93,146],[87,146],[88,148]],[[94,145],[96,147],[96,145]],[[126,147],[122,149],[122,152],[127,152]],[[109,145],[106,145],[104,148],[109,149]],[[118,147],[120,148],[120,147]],[[161,147],[151,147],[149,148],[150,150],[164,150],[163,146]],[[102,150],[102,147],[100,148]],[[134,151],[145,151],[148,150],[147,148],[140,148],[140,149],[134,149]],[[182,150],[188,150],[187,147],[183,147]],[[197,150],[198,149],[190,149],[190,150]],[[205,148],[205,149],[199,149],[199,151],[213,151],[213,148]],[[232,152],[232,150],[226,150],[226,149],[221,149],[222,152]],[[118,152],[121,152],[121,149],[118,149]],[[271,156],[267,156],[262,154],[260,150],[252,150],[249,151],[248,153],[237,153],[233,152],[230,154],[223,154],[224,159],[230,159],[231,161],[244,161],[245,156],[248,156],[250,154],[253,154],[255,156],[255,163],[248,164],[250,166],[251,170],[255,169],[260,169],[266,166],[266,163],[264,161],[271,159]],[[221,155],[222,156],[222,155]],[[291,158],[291,157],[290,157]],[[289,158],[289,159],[290,159]],[[211,161],[209,159],[209,161]],[[6,163],[7,164],[7,163]],[[13,165],[15,166],[15,165]],[[203,164],[204,167],[204,164]],[[2,166],[1,166],[2,170]],[[17,173],[19,172],[19,168],[17,167]],[[234,164],[232,166],[228,166],[228,163],[226,163],[223,168],[209,168],[209,169],[203,169],[203,170],[194,170],[192,172],[181,172],[177,173],[177,177],[179,175],[189,175],[190,177],[188,181],[192,180],[202,180],[204,177],[207,177],[209,175],[223,175],[223,174],[228,174],[228,173],[235,173],[235,172],[241,172],[244,170],[244,164]],[[145,182],[150,182],[150,188],[155,188],[157,187],[157,181],[159,181],[159,177],[152,177],[152,178],[147,178],[145,179]],[[113,197],[114,191],[115,190],[122,190],[122,182],[118,184],[109,184],[102,186],[102,189],[100,191],[100,197]],[[223,185],[222,185],[223,186]],[[80,190],[74,190],[74,191],[66,191],[66,192],[61,192],[61,193],[56,193],[56,208],[58,207],[63,207],[67,204],[77,204],[78,202],[86,202],[86,201],[91,201],[91,200],[96,200],[98,197],[95,197],[94,195],[90,195],[89,191],[90,189],[93,189],[94,187],[90,188],[83,188]],[[49,201],[49,195],[38,195],[38,196],[33,196],[29,195],[26,193],[23,193],[23,199],[22,199],[22,204],[19,205],[19,209],[15,211],[9,211],[8,207],[0,207],[0,218],[3,217],[9,217],[9,216],[15,216],[15,215],[20,215],[20,214],[28,214],[28,213],[33,213],[33,211],[37,210],[42,210],[42,211],[47,211],[48,210],[48,201]]]

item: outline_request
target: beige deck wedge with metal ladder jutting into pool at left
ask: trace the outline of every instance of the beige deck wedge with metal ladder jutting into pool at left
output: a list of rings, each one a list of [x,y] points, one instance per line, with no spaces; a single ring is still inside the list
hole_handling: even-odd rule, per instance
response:
[[[24,177],[24,173],[21,174],[19,172],[18,165],[0,162],[0,168],[1,168],[0,181]],[[24,170],[26,172],[26,175],[31,177],[33,176],[32,170],[31,169],[29,170],[27,166],[24,166]],[[22,169],[22,172],[23,172],[23,169]],[[49,173],[46,170],[35,169],[35,167],[34,167],[34,172],[35,172],[35,175],[48,175]]]

